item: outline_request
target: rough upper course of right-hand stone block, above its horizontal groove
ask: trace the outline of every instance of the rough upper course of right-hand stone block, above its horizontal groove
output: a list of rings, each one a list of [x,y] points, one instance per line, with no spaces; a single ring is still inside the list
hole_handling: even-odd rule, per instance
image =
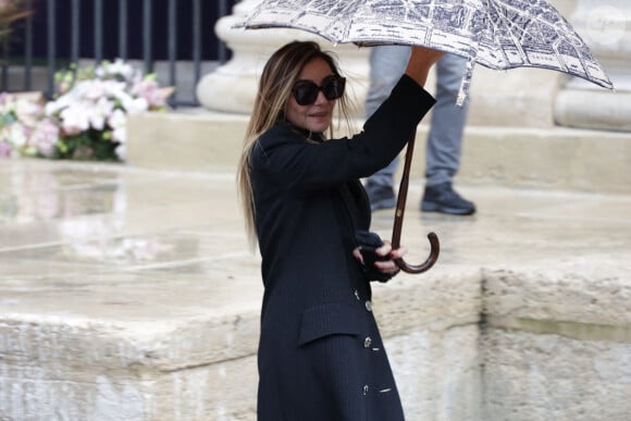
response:
[[[577,335],[579,326],[587,325],[622,333],[631,329],[631,281],[621,258],[596,255],[546,269],[484,271],[485,311],[507,327],[528,330],[539,321],[545,331],[556,321],[559,332],[573,323]]]

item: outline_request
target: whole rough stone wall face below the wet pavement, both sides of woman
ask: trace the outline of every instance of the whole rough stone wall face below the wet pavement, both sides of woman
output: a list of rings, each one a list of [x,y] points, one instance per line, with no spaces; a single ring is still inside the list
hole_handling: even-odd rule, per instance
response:
[[[408,419],[627,420],[631,284],[620,261],[376,285]],[[257,307],[125,326],[4,318],[0,419],[253,420]]]

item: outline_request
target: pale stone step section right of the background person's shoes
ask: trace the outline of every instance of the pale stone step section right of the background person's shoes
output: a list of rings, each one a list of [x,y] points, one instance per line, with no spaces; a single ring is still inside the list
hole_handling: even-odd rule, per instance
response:
[[[631,133],[471,126],[462,149],[467,183],[631,193]]]

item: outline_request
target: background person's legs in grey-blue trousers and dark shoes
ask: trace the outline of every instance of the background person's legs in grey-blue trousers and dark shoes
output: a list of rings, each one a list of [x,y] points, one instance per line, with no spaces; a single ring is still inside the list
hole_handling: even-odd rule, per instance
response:
[[[370,54],[370,86],[366,100],[369,117],[388,97],[403,74],[410,47],[378,46]],[[456,54],[445,54],[436,63],[436,104],[432,109],[432,122],[425,153],[425,189],[421,211],[454,215],[470,215],[475,205],[454,190],[454,176],[460,166],[462,132],[469,111],[469,100],[456,106],[460,81],[467,60]],[[386,168],[366,179],[371,209],[388,209],[396,206],[394,175],[399,157]]]

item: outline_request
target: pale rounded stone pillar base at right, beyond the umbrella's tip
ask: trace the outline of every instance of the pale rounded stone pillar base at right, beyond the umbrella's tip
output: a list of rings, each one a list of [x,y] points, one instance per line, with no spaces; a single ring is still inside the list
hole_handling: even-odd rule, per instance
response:
[[[568,127],[631,131],[631,2],[577,0],[570,18],[615,91],[572,77],[558,94],[555,121]]]

